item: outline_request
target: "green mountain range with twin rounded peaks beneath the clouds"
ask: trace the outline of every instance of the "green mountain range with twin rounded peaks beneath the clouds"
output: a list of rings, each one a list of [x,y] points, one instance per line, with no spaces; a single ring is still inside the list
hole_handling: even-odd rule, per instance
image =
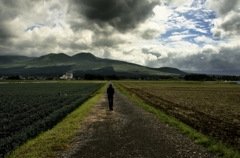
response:
[[[150,68],[119,60],[103,59],[91,53],[68,56],[50,53],[38,58],[26,56],[0,56],[0,75],[59,76],[72,72],[75,76],[85,74],[118,76],[184,76],[187,73],[176,68]]]

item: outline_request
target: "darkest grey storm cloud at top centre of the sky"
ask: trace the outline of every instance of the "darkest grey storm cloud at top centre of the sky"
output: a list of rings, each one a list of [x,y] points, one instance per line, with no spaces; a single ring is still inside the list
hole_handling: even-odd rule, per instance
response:
[[[73,0],[78,13],[99,25],[107,23],[121,32],[135,28],[153,15],[159,1],[147,0]]]

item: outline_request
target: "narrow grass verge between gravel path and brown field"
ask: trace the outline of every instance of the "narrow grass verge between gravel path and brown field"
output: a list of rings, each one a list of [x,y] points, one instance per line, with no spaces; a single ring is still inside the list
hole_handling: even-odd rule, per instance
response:
[[[160,110],[147,105],[140,99],[133,97],[129,92],[127,92],[122,86],[117,83],[114,83],[114,86],[117,87],[124,95],[126,95],[129,99],[136,102],[137,104],[141,105],[145,110],[155,114],[160,120],[169,124],[173,128],[179,130],[182,134],[188,136],[191,140],[195,143],[200,144],[207,148],[210,152],[216,154],[219,157],[224,158],[239,158],[240,153],[232,148],[228,148],[222,142],[216,141],[212,137],[205,136],[200,132],[196,131],[195,129],[187,126],[186,124],[178,121],[172,116],[166,115],[165,113],[161,112]]]

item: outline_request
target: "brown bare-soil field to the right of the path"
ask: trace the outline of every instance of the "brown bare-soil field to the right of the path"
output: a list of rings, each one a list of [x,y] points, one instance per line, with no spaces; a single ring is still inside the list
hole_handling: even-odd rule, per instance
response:
[[[132,95],[240,150],[240,86],[216,82],[119,82]]]

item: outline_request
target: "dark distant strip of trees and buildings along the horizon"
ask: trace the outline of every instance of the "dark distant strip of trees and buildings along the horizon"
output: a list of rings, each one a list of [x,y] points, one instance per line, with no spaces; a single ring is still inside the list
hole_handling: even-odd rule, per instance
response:
[[[236,82],[240,84],[240,76],[214,76],[205,74],[187,74],[184,77],[174,76],[117,76],[85,74],[84,76],[73,76],[72,72],[67,72],[62,76],[1,76],[0,80],[186,80],[186,81],[224,81]]]

